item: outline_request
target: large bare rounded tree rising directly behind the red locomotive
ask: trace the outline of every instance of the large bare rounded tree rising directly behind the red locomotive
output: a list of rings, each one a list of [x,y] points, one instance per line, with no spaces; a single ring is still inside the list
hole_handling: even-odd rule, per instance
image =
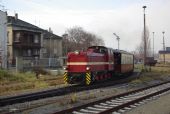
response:
[[[81,27],[67,29],[63,36],[63,49],[66,50],[64,52],[84,50],[93,45],[104,45],[101,37],[87,32]]]

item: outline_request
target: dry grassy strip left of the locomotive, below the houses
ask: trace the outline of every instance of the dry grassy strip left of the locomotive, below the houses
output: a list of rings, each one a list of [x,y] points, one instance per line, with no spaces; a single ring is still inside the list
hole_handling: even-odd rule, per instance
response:
[[[62,76],[41,75],[37,79],[32,72],[14,73],[0,70],[0,95],[48,88],[59,84],[63,84]]]

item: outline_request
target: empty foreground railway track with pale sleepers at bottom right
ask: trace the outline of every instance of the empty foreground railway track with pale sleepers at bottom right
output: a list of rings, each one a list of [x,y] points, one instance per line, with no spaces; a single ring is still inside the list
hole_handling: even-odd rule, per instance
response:
[[[120,114],[170,92],[170,81],[123,93],[53,114]]]

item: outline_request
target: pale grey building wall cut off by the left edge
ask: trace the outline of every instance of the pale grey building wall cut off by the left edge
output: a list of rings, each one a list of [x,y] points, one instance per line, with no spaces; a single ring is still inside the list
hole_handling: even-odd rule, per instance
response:
[[[7,68],[7,13],[0,10],[0,67]]]

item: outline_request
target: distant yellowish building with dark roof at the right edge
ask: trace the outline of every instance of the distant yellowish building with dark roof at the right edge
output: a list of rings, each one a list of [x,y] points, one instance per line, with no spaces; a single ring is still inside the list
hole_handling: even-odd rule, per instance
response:
[[[165,55],[165,62],[170,63],[170,47],[166,47],[165,51],[159,51],[159,62],[164,61],[164,55]]]

